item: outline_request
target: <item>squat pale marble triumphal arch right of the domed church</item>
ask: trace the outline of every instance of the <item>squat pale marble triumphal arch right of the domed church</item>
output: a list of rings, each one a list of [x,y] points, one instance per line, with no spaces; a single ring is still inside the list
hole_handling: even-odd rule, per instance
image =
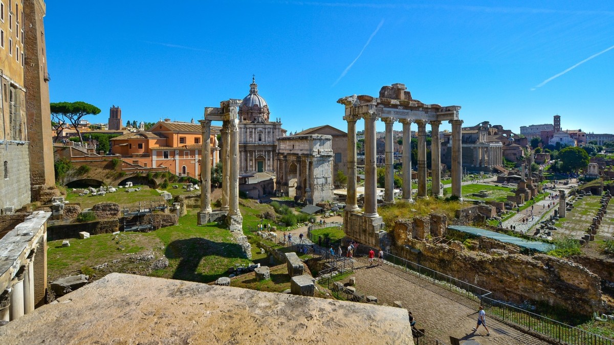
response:
[[[278,138],[277,152],[279,192],[305,204],[333,200],[332,136]]]

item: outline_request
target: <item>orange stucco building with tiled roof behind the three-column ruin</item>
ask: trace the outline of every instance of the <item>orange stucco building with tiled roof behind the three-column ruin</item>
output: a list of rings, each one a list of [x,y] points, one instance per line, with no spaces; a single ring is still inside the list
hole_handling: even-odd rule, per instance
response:
[[[211,126],[211,163],[219,161],[217,134]],[[149,131],[128,133],[111,139],[111,152],[122,155],[128,163],[144,167],[164,166],[177,176],[198,179],[201,172],[203,135],[200,123],[157,122]]]

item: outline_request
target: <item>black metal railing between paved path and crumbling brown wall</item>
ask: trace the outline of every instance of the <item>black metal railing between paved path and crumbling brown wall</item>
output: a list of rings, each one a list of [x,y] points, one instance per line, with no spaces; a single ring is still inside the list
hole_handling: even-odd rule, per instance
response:
[[[357,248],[356,252],[367,254],[370,249],[373,249],[376,253],[378,252],[378,249],[363,244]],[[527,333],[555,339],[561,344],[614,345],[613,339],[581,330],[580,328],[549,319],[548,317],[526,311],[502,301],[494,300],[488,297],[488,295],[491,295],[491,292],[486,289],[461,281],[447,274],[440,273],[434,269],[418,265],[418,263],[411,262],[387,252],[384,252],[384,260],[394,268],[413,274],[443,289],[480,303],[484,306],[484,311],[486,311],[489,316],[519,330],[526,331]]]

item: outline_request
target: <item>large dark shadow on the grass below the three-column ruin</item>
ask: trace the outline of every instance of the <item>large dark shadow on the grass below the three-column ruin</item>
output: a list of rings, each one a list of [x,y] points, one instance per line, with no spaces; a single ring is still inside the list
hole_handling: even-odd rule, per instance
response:
[[[225,276],[225,272],[199,273],[198,265],[204,257],[247,258],[238,244],[214,242],[206,238],[177,239],[166,247],[165,255],[169,259],[179,259],[172,278],[192,282],[211,282]],[[219,265],[224,264],[225,262],[219,262]]]

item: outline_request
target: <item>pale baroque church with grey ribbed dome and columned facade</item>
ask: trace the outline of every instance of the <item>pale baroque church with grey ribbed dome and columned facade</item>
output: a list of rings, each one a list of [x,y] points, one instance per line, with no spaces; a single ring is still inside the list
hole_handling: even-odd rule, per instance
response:
[[[239,106],[239,174],[274,172],[277,138],[286,131],[281,120],[270,120],[268,104],[258,95],[258,85],[252,79],[249,95]]]

